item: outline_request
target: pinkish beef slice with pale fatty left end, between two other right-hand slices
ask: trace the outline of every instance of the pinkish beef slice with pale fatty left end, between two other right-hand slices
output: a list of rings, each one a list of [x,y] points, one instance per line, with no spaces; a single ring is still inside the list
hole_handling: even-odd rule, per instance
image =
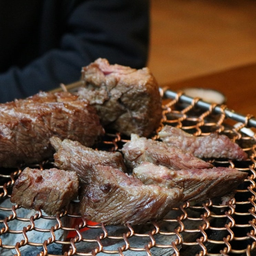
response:
[[[132,134],[131,140],[123,145],[122,153],[125,164],[130,170],[143,162],[164,165],[173,170],[213,167],[211,163],[184,152],[178,147],[167,146],[161,141],[147,139],[136,134]]]

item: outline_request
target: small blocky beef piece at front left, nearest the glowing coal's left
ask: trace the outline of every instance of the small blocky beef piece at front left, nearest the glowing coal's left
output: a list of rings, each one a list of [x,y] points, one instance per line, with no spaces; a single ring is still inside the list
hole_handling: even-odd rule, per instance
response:
[[[11,202],[55,215],[78,197],[78,188],[78,176],[73,171],[26,167],[14,183]]]

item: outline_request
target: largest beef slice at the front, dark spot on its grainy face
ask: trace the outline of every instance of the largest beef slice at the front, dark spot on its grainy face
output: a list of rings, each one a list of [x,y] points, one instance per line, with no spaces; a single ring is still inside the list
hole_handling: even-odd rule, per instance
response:
[[[180,204],[182,197],[179,188],[144,185],[112,166],[95,165],[90,184],[82,187],[80,213],[107,225],[142,224],[163,218]]]

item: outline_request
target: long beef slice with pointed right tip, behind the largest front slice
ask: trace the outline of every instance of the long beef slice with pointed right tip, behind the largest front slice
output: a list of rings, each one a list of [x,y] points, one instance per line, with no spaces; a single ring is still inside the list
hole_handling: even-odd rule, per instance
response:
[[[147,185],[183,188],[184,201],[204,202],[216,197],[232,196],[248,173],[226,167],[176,171],[144,162],[133,169],[133,175]]]

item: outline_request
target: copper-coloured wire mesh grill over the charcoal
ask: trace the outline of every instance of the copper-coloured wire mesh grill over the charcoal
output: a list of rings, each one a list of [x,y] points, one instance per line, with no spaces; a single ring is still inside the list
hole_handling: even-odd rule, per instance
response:
[[[182,94],[163,101],[162,125],[180,127],[195,135],[220,132],[237,142],[249,155],[243,162],[209,160],[248,173],[237,193],[225,205],[221,199],[203,204],[186,202],[163,220],[138,226],[105,226],[72,214],[76,202],[61,214],[25,211],[10,203],[11,189],[22,169],[0,170],[0,255],[252,255],[256,246],[256,162],[252,116],[237,125],[226,106],[198,107],[199,99],[182,101]],[[119,150],[129,138],[106,134],[99,149]],[[157,139],[157,135],[154,136]],[[45,162],[33,167],[47,168]]]

